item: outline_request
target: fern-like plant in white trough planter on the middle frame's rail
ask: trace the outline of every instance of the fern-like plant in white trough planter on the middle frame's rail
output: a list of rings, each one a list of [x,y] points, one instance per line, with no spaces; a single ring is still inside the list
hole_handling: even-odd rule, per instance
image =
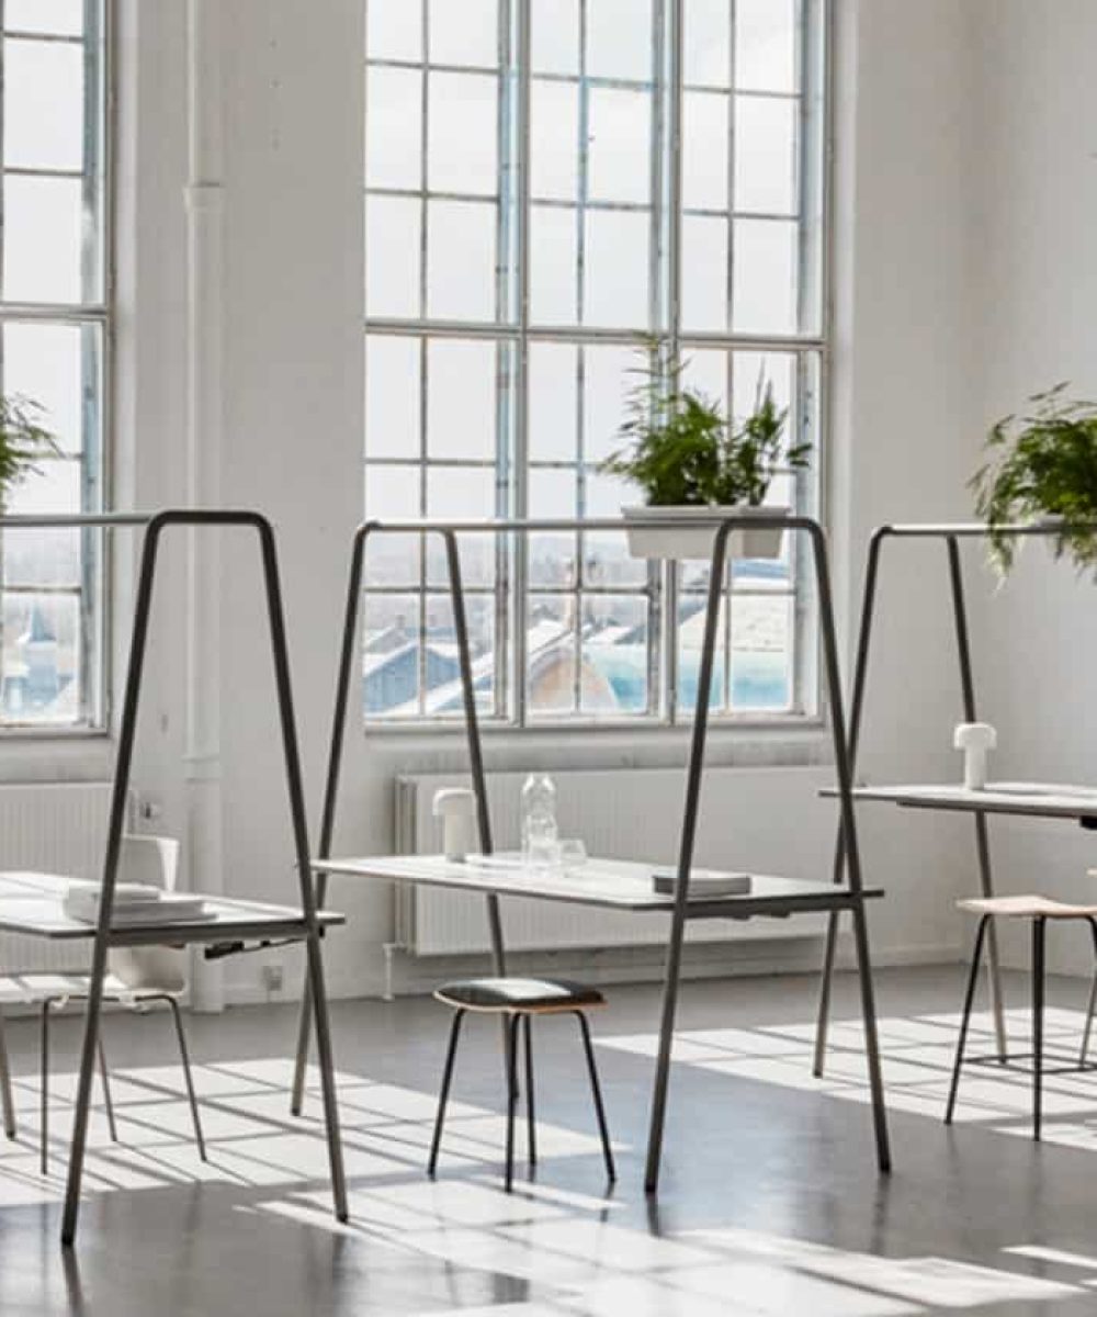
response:
[[[702,558],[712,553],[714,510],[773,518],[789,508],[761,507],[778,468],[807,465],[809,444],[782,450],[788,407],[759,374],[755,407],[736,425],[695,389],[682,385],[685,362],[660,370],[653,345],[641,349],[641,377],[628,395],[619,435],[626,448],[599,470],[624,477],[644,491],[645,503],[623,507],[628,549],[640,558]],[[691,527],[689,522],[702,522]],[[732,557],[772,558],[781,552],[781,529],[743,528],[728,544]]]

